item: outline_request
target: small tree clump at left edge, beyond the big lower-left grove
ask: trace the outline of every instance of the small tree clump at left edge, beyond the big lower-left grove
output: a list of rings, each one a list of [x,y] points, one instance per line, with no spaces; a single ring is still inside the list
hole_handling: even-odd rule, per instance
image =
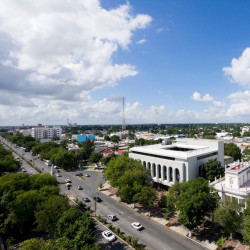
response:
[[[0,144],[0,176],[5,172],[16,172],[19,162],[14,159],[12,152]]]

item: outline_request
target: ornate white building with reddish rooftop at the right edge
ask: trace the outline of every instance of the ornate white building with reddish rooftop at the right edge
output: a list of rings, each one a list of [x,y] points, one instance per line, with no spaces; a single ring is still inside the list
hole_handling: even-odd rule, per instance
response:
[[[234,197],[239,204],[246,207],[250,194],[250,162],[230,163],[225,169],[225,177],[210,185],[218,191],[222,200]]]

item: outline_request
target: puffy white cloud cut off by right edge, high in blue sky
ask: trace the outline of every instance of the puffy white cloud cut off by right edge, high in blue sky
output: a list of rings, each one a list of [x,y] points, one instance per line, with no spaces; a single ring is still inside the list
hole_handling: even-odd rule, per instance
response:
[[[250,87],[250,48],[246,48],[238,59],[233,58],[231,67],[224,67],[223,71],[232,82]]]

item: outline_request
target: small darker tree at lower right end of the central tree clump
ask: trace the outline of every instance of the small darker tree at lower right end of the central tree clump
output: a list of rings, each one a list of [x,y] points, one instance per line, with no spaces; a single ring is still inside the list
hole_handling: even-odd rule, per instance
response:
[[[142,206],[153,206],[156,192],[152,187],[143,186],[141,191],[134,195],[133,200],[138,201]]]

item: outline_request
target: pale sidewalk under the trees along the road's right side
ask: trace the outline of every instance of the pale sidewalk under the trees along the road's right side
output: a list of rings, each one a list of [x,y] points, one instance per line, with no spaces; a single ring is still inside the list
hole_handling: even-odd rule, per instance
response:
[[[201,244],[202,246],[204,246],[208,249],[211,249],[211,250],[217,249],[217,245],[216,245],[215,241],[201,240],[201,239],[198,239],[196,236],[189,237],[190,236],[189,230],[178,222],[177,216],[173,216],[172,218],[170,218],[170,220],[166,220],[166,219],[164,219],[160,216],[156,216],[154,214],[150,215],[149,211],[146,211],[140,207],[135,207],[134,204],[127,204],[127,203],[121,202],[120,198],[115,195],[116,189],[111,187],[109,185],[109,183],[107,183],[107,182],[103,184],[103,188],[100,190],[100,192],[111,197],[114,200],[117,200],[118,202],[122,203],[123,205],[129,207],[130,209],[133,209],[134,211],[150,218],[151,220],[154,220],[154,221],[160,223],[162,226],[168,227],[169,229],[175,231],[176,233],[179,233],[179,234],[183,235],[184,237],[188,237],[189,239],[194,240],[198,244]],[[167,226],[167,225],[170,225],[170,226]],[[242,250],[243,249],[249,250],[249,248],[247,246],[239,243],[238,241],[229,241],[229,240],[227,240],[225,242],[225,244],[223,245],[223,248],[225,248],[225,249],[237,249],[237,250],[241,250],[241,249]]]

